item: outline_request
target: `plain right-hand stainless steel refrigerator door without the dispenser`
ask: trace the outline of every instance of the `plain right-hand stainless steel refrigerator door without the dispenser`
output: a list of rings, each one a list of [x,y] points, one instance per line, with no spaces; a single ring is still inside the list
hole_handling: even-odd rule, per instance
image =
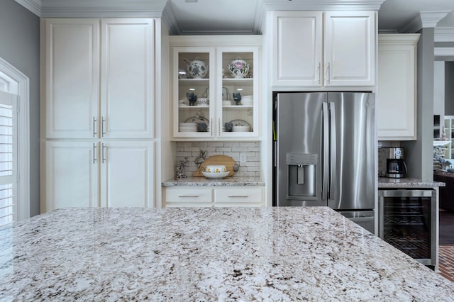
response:
[[[328,104],[333,131],[328,206],[335,210],[373,209],[374,94],[332,92],[328,93]]]

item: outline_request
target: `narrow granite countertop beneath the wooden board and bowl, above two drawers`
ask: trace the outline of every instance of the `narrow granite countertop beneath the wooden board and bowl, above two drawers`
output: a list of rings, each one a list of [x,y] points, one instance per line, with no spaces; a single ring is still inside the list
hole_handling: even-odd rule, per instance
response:
[[[162,186],[265,186],[260,177],[226,177],[223,179],[208,179],[206,177],[187,177],[169,179]]]

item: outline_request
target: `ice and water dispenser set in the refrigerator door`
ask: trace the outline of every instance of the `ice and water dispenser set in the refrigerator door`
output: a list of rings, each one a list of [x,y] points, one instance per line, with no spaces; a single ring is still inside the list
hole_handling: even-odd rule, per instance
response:
[[[287,153],[288,191],[287,199],[317,198],[317,164],[316,154]]]

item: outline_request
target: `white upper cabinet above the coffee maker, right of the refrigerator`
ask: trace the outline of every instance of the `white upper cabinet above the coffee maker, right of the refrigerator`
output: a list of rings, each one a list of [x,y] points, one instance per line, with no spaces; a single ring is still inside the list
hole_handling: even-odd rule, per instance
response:
[[[416,50],[419,34],[378,35],[377,136],[416,140]]]

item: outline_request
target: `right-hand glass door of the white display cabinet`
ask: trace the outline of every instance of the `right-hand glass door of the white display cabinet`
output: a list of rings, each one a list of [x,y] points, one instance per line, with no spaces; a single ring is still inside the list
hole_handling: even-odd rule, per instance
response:
[[[218,135],[242,137],[257,135],[255,125],[258,85],[254,79],[257,52],[250,47],[219,47],[217,123]]]

